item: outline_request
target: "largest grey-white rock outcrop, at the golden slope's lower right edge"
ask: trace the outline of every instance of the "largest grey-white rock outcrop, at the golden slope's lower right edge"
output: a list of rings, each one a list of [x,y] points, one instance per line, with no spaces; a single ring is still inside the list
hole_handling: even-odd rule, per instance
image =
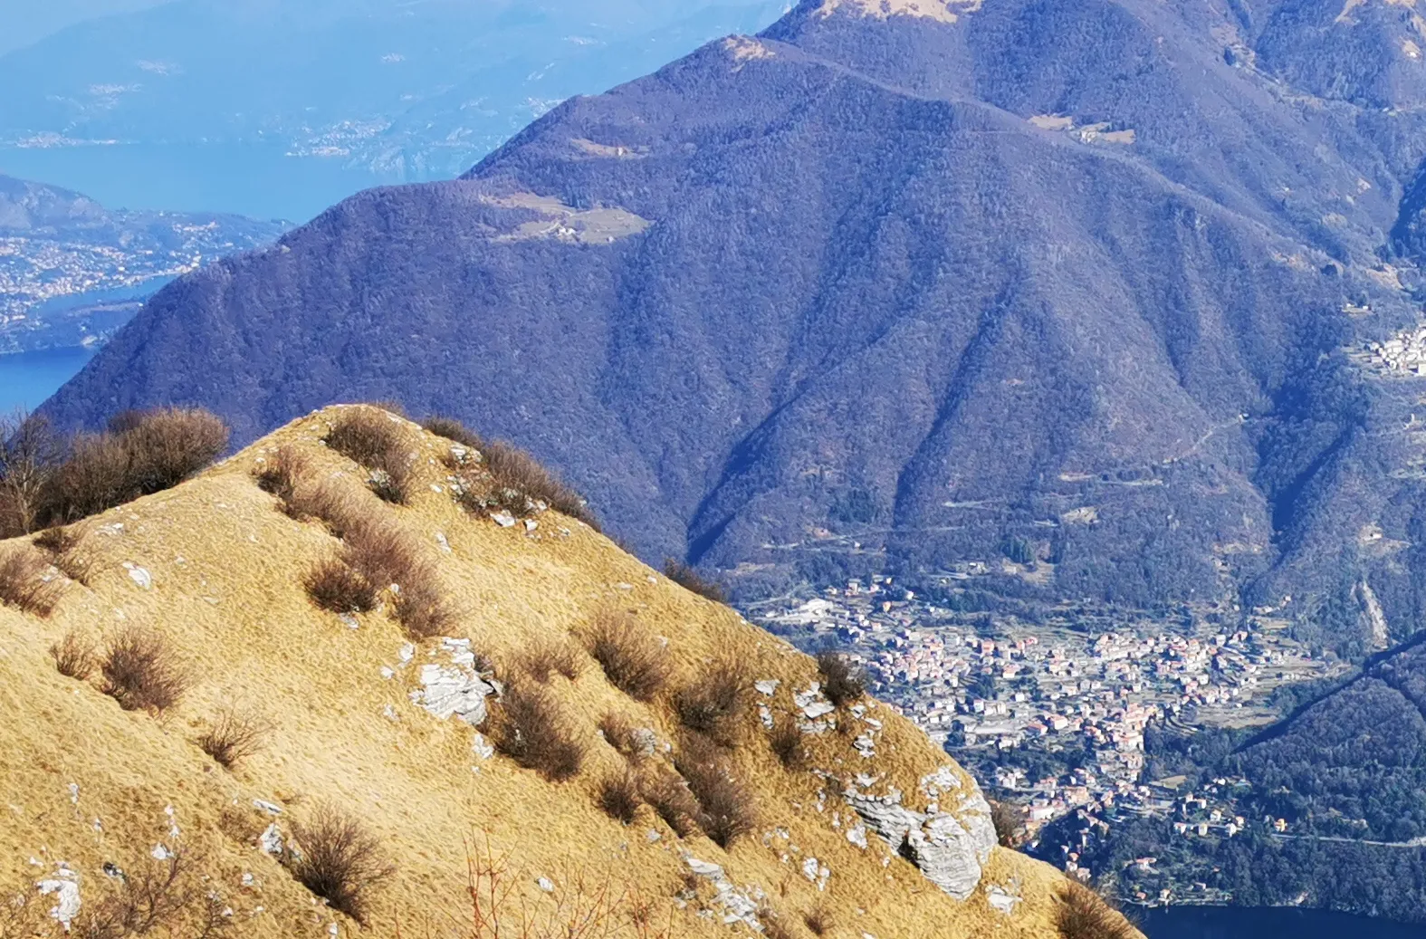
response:
[[[968,791],[963,791],[954,771],[945,768],[921,781],[921,791],[931,803],[918,812],[904,805],[896,788],[880,796],[863,792],[870,782],[858,778],[848,785],[841,793],[847,805],[894,851],[913,861],[927,880],[958,900],[968,898],[995,846],[990,803],[980,788],[971,782]],[[954,798],[955,792],[960,795],[954,812],[944,811],[937,799]]]

